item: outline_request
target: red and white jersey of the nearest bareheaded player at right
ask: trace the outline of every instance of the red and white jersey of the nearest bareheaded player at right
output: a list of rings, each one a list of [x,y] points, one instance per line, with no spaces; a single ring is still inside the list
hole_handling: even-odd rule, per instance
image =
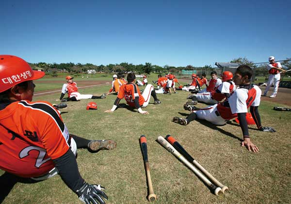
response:
[[[233,119],[238,113],[247,113],[250,106],[259,106],[262,91],[257,85],[237,88],[224,102],[218,103],[217,110],[223,119]]]

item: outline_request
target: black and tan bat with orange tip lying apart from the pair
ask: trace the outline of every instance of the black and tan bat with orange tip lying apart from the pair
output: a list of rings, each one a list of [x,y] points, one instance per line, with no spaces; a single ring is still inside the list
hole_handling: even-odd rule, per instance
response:
[[[156,194],[154,193],[153,185],[151,182],[150,172],[149,172],[149,165],[148,165],[148,158],[147,158],[147,145],[146,145],[146,136],[141,136],[140,138],[141,149],[143,153],[143,159],[146,167],[146,178],[148,183],[148,196],[147,199],[149,201],[155,201],[157,199]]]

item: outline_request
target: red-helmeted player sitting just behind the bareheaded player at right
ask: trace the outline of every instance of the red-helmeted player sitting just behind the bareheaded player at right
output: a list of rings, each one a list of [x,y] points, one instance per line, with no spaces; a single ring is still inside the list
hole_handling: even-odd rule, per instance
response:
[[[217,88],[214,88],[210,92],[197,93],[194,95],[189,95],[187,99],[192,99],[192,101],[186,102],[184,108],[189,105],[196,105],[197,102],[204,102],[206,104],[216,104],[225,98],[228,98],[230,94],[235,91],[235,84],[232,82],[233,74],[230,71],[225,71],[221,75],[223,83]],[[186,110],[188,110],[187,107]]]

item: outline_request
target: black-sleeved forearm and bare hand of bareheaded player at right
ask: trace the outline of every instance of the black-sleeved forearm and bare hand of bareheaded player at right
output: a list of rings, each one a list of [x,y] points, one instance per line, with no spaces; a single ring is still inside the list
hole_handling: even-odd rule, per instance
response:
[[[250,139],[249,133],[248,133],[248,126],[246,122],[246,113],[238,113],[238,119],[240,121],[240,126],[242,129],[242,135],[243,135],[243,141],[242,146],[245,146],[248,151],[252,152],[259,152],[259,148],[253,144],[253,142]]]

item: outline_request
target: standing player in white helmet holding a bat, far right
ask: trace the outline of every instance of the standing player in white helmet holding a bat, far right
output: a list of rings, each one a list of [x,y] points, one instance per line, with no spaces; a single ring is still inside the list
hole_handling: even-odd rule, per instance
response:
[[[266,86],[263,96],[267,96],[270,86],[274,83],[274,92],[270,97],[275,98],[277,95],[277,91],[278,91],[278,87],[280,83],[280,71],[285,73],[286,70],[282,68],[281,63],[275,62],[274,56],[269,57],[269,62],[270,64],[267,65],[267,69],[269,72],[269,79],[268,79],[268,84]]]

